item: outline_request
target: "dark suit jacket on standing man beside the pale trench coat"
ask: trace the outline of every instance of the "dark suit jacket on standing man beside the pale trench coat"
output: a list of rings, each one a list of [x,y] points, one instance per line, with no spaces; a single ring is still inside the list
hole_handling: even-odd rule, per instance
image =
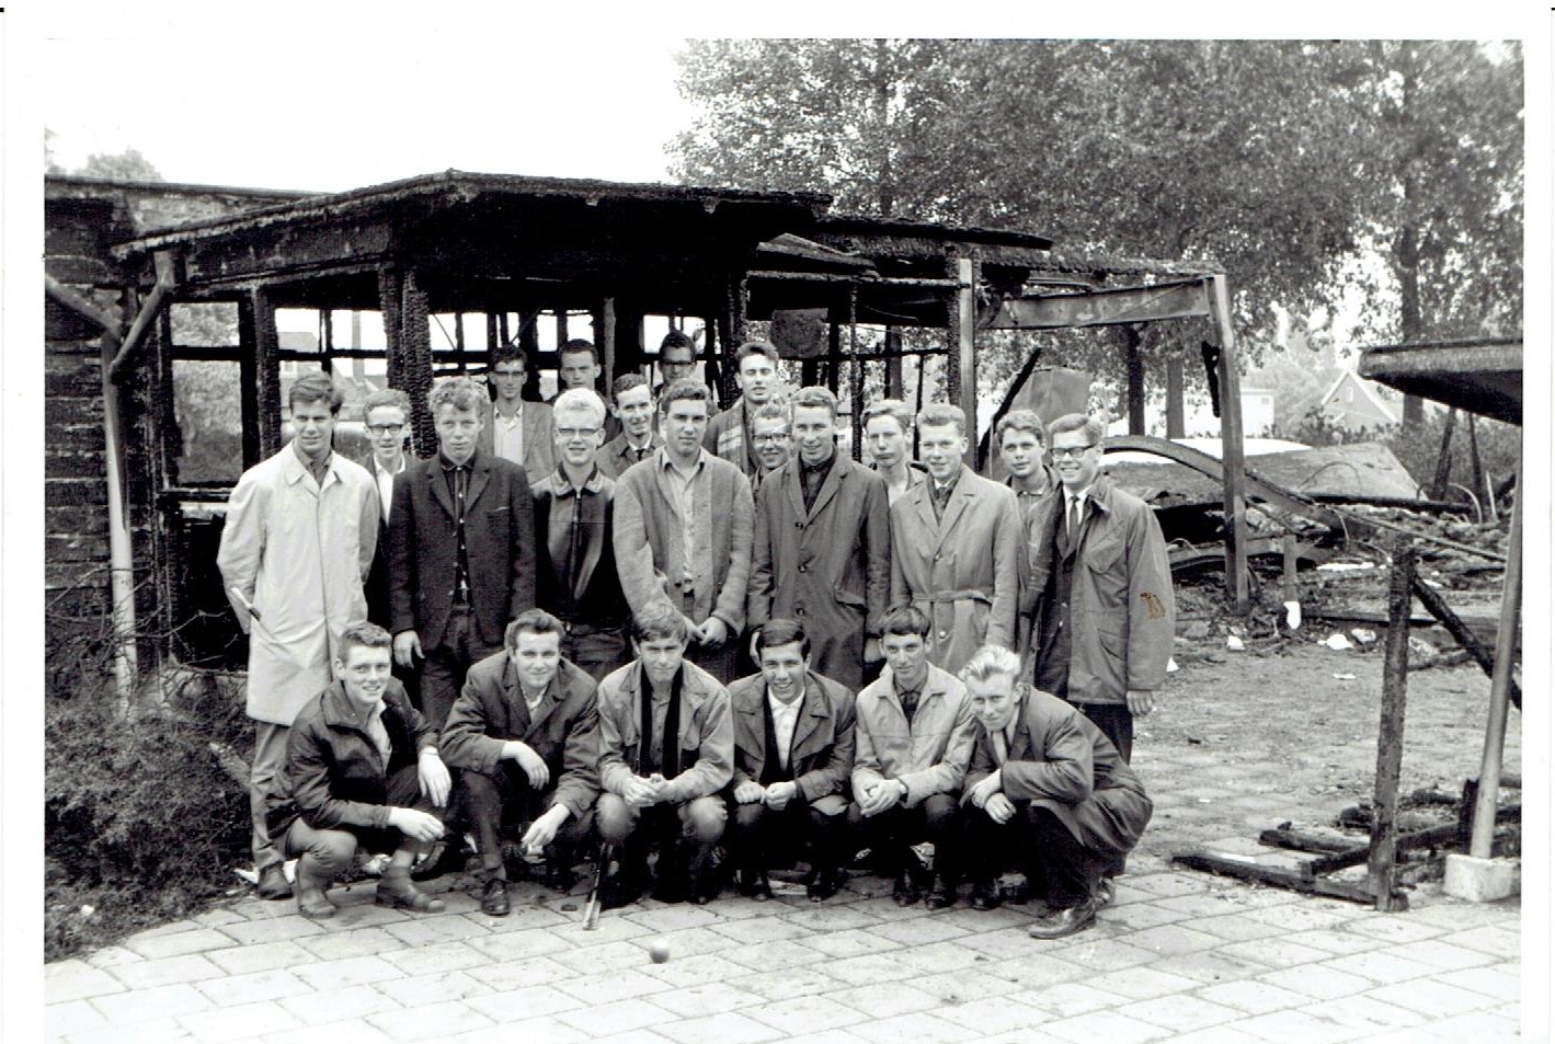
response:
[[[465,508],[471,615],[480,642],[535,604],[535,502],[524,469],[476,451]],[[393,480],[389,511],[390,631],[415,631],[421,648],[443,640],[459,561],[454,500],[442,455],[414,460]]]

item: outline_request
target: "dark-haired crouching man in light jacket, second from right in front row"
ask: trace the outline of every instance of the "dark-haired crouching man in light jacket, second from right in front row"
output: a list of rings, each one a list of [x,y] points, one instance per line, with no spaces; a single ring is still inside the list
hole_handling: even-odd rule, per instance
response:
[[[854,803],[847,830],[896,873],[891,898],[911,906],[931,881],[928,906],[956,901],[956,797],[972,757],[977,724],[966,685],[928,659],[928,617],[896,606],[880,620],[886,666],[858,693]],[[935,847],[925,875],[910,845]]]

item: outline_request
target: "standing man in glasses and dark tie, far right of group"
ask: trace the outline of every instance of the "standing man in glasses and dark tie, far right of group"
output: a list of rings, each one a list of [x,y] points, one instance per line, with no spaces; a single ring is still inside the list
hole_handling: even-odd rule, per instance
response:
[[[1048,426],[1062,496],[1031,520],[1033,645],[1037,688],[1075,704],[1127,761],[1134,716],[1166,680],[1174,604],[1155,513],[1099,475],[1102,433],[1084,413]]]

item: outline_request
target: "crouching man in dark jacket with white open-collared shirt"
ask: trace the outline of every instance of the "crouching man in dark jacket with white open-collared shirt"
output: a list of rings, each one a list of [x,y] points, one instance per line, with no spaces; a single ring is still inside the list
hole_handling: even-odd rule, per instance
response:
[[[793,620],[756,631],[751,674],[729,685],[734,708],[734,822],[728,847],[740,893],[770,900],[767,868],[810,842],[813,903],[843,884],[854,696],[810,670],[810,639]]]

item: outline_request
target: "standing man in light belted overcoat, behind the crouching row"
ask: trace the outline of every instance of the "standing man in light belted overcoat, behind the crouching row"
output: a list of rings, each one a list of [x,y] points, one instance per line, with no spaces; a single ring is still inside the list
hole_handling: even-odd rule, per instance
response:
[[[1015,646],[1020,508],[1015,494],[963,463],[959,407],[924,407],[917,447],[930,480],[891,505],[891,601],[924,611],[928,656],[955,673],[984,642]]]

